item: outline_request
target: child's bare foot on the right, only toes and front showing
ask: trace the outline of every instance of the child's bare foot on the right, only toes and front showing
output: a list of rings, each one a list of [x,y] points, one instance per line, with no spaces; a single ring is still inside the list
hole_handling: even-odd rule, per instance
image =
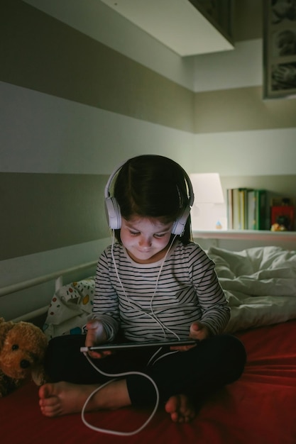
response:
[[[196,415],[192,402],[184,394],[171,396],[165,404],[165,411],[175,423],[189,423]]]

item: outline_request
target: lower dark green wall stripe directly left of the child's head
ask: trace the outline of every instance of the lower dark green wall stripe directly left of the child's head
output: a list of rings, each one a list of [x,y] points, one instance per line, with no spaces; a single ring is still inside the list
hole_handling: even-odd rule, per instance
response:
[[[107,176],[1,173],[0,260],[109,236]]]

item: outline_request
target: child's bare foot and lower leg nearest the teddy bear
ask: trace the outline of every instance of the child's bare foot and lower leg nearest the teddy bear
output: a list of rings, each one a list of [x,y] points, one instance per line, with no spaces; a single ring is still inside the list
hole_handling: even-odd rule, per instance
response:
[[[98,388],[98,384],[80,385],[70,382],[44,384],[39,389],[40,410],[43,415],[50,417],[79,413],[90,394]],[[130,404],[126,381],[120,379],[97,391],[89,399],[87,411],[119,409]]]

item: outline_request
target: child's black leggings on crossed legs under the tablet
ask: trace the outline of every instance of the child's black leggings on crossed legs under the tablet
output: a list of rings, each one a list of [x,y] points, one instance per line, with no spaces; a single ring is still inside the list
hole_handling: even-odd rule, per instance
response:
[[[246,364],[246,351],[241,341],[233,335],[214,335],[197,343],[187,352],[170,352],[161,348],[152,364],[150,357],[158,348],[124,350],[104,359],[93,360],[106,377],[97,372],[80,352],[84,335],[65,335],[53,338],[48,345],[45,370],[53,382],[67,381],[75,384],[102,384],[114,379],[112,374],[143,372],[158,387],[160,401],[175,394],[185,394],[203,401],[209,394],[238,379]],[[159,360],[157,358],[161,357]],[[138,374],[126,376],[128,394],[133,406],[146,406],[155,402],[152,383]]]

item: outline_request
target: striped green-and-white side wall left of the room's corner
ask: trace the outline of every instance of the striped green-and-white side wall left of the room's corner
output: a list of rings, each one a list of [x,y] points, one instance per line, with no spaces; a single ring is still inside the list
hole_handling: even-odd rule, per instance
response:
[[[96,260],[110,243],[104,185],[115,165],[150,152],[187,168],[194,137],[192,62],[100,1],[31,3],[52,15],[0,4],[0,287]],[[53,291],[1,297],[0,314],[38,309]]]

